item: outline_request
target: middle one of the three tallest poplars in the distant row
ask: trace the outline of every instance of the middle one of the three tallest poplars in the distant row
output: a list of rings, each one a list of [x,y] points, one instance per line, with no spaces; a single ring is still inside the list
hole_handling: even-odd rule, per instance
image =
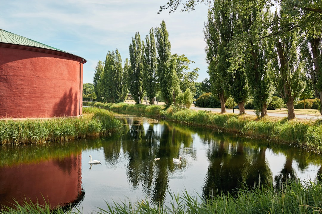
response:
[[[143,45],[143,65],[144,65],[144,88],[147,96],[150,98],[151,104],[154,105],[154,97],[156,96],[156,42],[154,39],[154,30],[150,29],[149,36],[145,37],[145,45]]]

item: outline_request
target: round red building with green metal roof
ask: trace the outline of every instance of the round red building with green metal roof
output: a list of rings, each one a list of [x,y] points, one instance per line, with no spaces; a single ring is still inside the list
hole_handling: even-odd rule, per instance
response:
[[[84,63],[0,29],[0,118],[81,115]]]

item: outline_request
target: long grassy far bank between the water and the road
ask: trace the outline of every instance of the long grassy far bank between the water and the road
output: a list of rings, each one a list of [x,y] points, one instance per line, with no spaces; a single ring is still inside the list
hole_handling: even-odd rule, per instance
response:
[[[85,104],[85,103],[84,103]],[[286,118],[256,116],[239,116],[236,114],[219,114],[211,111],[192,109],[164,110],[156,105],[133,105],[111,103],[87,103],[87,105],[106,108],[123,114],[135,114],[153,118],[166,118],[183,124],[207,126],[221,132],[239,133],[245,137],[269,139],[288,143],[322,153],[322,121],[292,120]]]

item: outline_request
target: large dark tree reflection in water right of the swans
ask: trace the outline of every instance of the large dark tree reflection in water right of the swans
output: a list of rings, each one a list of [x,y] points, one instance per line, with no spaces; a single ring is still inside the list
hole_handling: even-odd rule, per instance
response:
[[[242,141],[230,142],[221,138],[210,142],[207,157],[210,165],[203,187],[203,198],[221,193],[233,193],[247,185],[269,184],[272,173],[265,159],[266,148],[250,149]],[[250,151],[251,150],[251,151]]]

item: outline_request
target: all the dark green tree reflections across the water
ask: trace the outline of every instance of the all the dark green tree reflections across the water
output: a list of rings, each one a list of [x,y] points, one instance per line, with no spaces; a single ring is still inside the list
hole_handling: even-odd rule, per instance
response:
[[[132,188],[142,188],[156,204],[163,204],[166,200],[170,178],[176,173],[191,170],[188,169],[189,161],[190,164],[198,161],[195,136],[206,148],[207,171],[195,172],[205,173],[201,186],[204,199],[218,193],[234,193],[236,188],[244,186],[252,188],[258,184],[275,184],[276,188],[280,188],[296,176],[292,169],[294,158],[300,170],[306,169],[310,161],[316,158],[309,154],[302,155],[297,149],[268,148],[268,143],[264,141],[215,134],[204,128],[165,121],[160,124],[148,123],[135,117],[123,119],[123,122],[127,124],[126,133],[103,144],[106,163],[117,167],[123,161]],[[274,182],[266,157],[267,150],[286,156],[286,163],[280,173],[274,175]],[[172,163],[172,158],[178,158],[179,155],[184,159],[180,167]],[[154,158],[160,160],[155,161]],[[320,170],[322,172],[322,167]],[[320,174],[317,180],[321,180]]]

